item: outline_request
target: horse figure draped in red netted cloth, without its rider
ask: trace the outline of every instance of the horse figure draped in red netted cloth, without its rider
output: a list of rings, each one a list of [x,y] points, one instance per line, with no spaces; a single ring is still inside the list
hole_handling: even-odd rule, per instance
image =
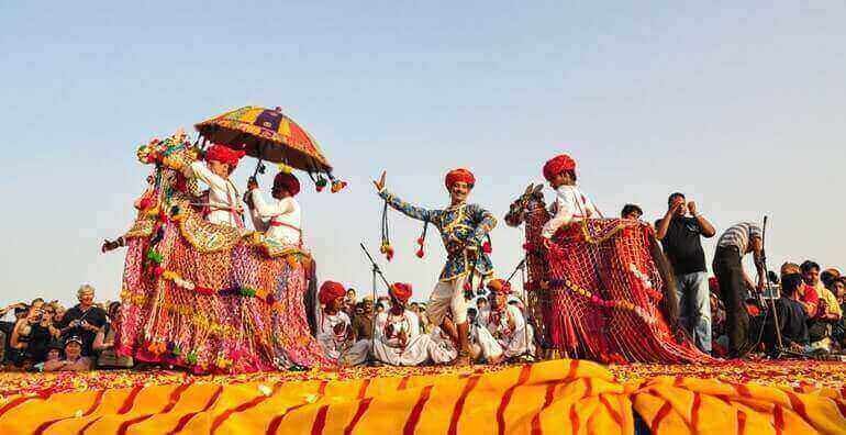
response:
[[[546,239],[543,185],[530,185],[505,215],[523,224],[527,310],[546,357],[602,362],[699,362],[678,324],[675,278],[653,228],[585,219]]]

